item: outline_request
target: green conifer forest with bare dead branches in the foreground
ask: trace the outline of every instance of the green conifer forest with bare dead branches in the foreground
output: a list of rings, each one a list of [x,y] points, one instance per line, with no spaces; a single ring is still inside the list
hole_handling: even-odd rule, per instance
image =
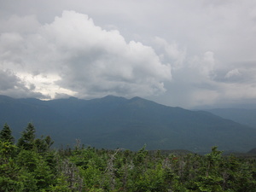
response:
[[[15,143],[9,125],[0,132],[0,191],[255,191],[256,160],[130,150],[51,149],[28,124]]]

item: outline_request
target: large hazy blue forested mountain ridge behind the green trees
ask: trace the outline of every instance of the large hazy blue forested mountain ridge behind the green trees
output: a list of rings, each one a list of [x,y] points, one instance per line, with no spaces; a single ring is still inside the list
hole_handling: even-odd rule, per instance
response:
[[[187,149],[246,152],[256,147],[256,129],[205,111],[172,108],[140,97],[75,97],[41,101],[0,96],[0,123],[8,123],[15,138],[28,122],[37,135],[50,135],[55,146],[80,139],[96,148]]]

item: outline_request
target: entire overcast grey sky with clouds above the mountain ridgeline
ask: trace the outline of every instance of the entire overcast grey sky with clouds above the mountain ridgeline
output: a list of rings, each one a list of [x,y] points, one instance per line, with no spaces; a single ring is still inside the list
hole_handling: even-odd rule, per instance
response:
[[[256,103],[255,0],[0,0],[0,95]]]

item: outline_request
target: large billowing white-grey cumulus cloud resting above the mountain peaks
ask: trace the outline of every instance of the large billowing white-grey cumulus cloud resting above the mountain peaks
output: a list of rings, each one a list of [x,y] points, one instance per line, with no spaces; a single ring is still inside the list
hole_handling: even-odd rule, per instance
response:
[[[56,96],[71,92],[87,98],[148,96],[165,92],[164,81],[172,79],[171,66],[163,64],[154,49],[135,41],[126,43],[119,31],[103,30],[88,15],[63,11],[34,31],[2,33],[1,65],[28,82],[32,82],[26,78],[29,75],[57,75],[48,79],[52,87],[64,91]],[[34,90],[40,90],[39,85]],[[51,95],[58,91],[45,89]]]

